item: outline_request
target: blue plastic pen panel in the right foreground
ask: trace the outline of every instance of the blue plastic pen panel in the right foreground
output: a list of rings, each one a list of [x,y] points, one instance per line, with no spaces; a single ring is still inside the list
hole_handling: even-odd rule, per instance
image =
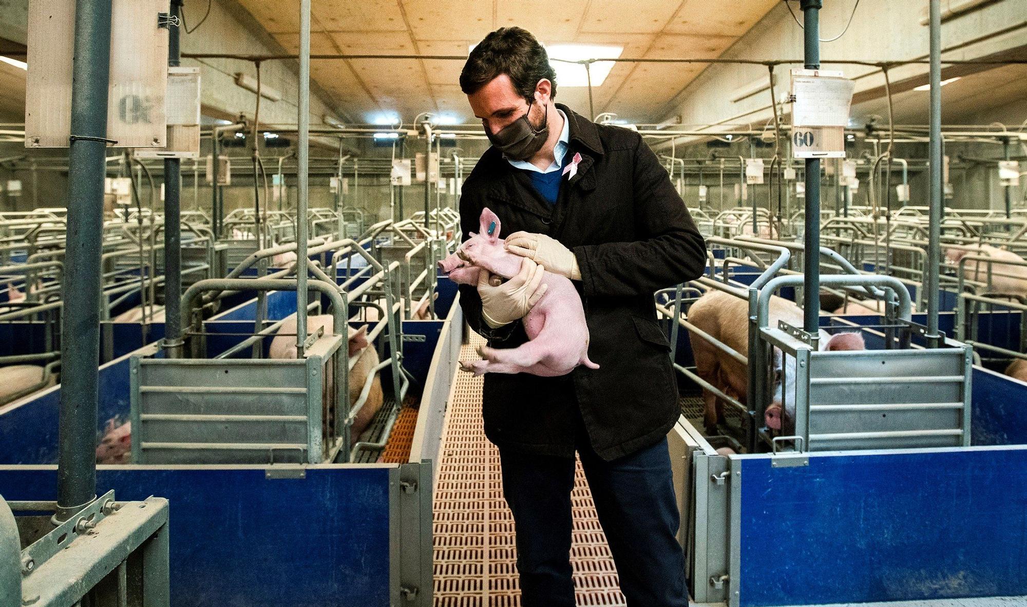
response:
[[[733,464],[745,607],[1027,595],[1027,448]]]

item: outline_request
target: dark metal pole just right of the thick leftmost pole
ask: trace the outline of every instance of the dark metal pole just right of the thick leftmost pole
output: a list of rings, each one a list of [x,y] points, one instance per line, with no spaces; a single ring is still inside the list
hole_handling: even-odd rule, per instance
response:
[[[172,16],[179,16],[182,0],[172,0]],[[174,18],[172,21],[175,21]],[[179,66],[179,26],[169,24],[167,65]],[[182,161],[164,159],[164,341],[169,358],[182,356]]]

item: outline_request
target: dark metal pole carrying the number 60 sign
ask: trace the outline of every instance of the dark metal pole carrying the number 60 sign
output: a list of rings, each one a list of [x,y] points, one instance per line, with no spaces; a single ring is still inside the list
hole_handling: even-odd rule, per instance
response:
[[[802,0],[804,60],[807,70],[821,68],[821,0]],[[805,280],[802,287],[803,328],[819,334],[821,318],[821,160],[806,159],[806,252],[802,256]]]

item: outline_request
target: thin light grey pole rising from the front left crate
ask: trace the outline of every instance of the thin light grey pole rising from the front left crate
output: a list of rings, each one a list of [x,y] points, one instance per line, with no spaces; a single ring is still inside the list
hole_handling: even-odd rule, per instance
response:
[[[296,209],[296,357],[303,358],[303,345],[307,339],[307,177],[310,161],[310,0],[300,0],[300,98],[299,141],[297,153],[297,209]],[[340,327],[335,328],[337,331]]]

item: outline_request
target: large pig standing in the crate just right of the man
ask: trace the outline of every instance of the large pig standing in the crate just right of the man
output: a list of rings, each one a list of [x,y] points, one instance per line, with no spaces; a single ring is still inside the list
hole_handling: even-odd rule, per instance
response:
[[[777,321],[793,327],[803,324],[802,310],[783,297],[770,297],[768,327],[777,327]],[[749,301],[720,290],[707,291],[688,311],[688,321],[745,357],[749,357]],[[822,351],[866,350],[859,333],[829,334],[820,332]],[[695,356],[695,373],[724,394],[747,403],[749,369],[725,352],[714,347],[703,337],[691,333],[692,353]],[[784,360],[782,360],[784,359]],[[795,359],[782,356],[773,349],[771,364],[774,370],[773,402],[767,407],[764,421],[767,428],[782,429],[784,411],[795,408]],[[784,385],[782,374],[784,373]],[[723,423],[723,403],[713,393],[703,390],[703,422],[708,434],[716,434],[717,423]]]

